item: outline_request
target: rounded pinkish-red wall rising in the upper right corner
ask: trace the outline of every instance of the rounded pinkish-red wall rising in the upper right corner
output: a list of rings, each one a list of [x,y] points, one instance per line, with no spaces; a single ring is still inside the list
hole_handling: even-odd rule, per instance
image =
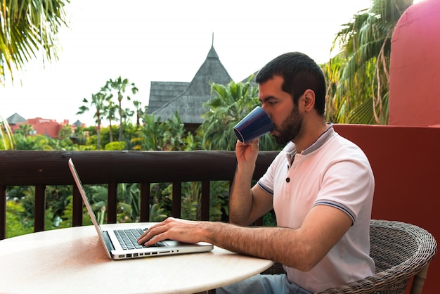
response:
[[[440,1],[410,6],[394,30],[389,124],[440,127]]]

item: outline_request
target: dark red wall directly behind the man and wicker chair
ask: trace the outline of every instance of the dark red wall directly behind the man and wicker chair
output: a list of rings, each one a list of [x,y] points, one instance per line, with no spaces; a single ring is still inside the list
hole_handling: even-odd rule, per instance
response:
[[[372,218],[415,224],[440,243],[440,127],[335,124],[335,130],[370,160]],[[424,294],[439,293],[439,255],[429,264]]]

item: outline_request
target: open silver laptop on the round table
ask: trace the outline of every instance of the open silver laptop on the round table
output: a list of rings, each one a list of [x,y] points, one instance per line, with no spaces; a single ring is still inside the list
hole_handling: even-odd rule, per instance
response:
[[[145,247],[137,243],[137,238],[148,229],[148,226],[152,226],[153,224],[132,223],[132,226],[127,226],[126,224],[104,224],[103,226],[100,226],[95,213],[91,209],[89,200],[87,200],[86,192],[82,186],[82,181],[79,179],[75,165],[73,165],[72,158],[69,159],[69,168],[75,179],[79,193],[81,193],[82,200],[89,212],[93,226],[95,226],[101,243],[112,260],[183,253],[201,253],[210,251],[214,248],[212,244],[205,242],[192,244],[169,240],[158,242],[155,246]]]

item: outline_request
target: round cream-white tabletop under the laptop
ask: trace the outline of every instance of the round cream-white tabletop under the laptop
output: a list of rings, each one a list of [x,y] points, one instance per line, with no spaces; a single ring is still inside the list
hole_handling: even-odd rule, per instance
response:
[[[113,261],[93,226],[0,241],[0,293],[196,293],[235,283],[271,260],[209,253]]]

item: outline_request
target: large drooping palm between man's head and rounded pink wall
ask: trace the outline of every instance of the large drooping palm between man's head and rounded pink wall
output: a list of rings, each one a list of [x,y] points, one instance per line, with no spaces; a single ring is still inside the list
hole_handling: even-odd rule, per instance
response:
[[[387,124],[392,33],[412,3],[374,0],[337,34],[339,53],[325,65],[330,87],[337,85],[330,91],[337,122]]]

